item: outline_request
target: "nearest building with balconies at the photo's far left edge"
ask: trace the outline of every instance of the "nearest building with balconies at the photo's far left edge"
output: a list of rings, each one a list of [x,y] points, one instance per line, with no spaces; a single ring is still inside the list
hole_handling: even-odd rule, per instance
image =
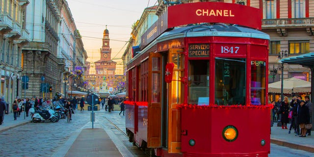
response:
[[[25,21],[28,4],[28,0],[0,1],[0,96],[9,105],[22,97],[22,47],[29,42]]]

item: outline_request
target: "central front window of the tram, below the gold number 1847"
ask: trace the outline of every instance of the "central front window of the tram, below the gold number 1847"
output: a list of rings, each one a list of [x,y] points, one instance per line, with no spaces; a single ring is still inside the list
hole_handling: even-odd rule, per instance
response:
[[[215,59],[215,104],[245,105],[245,59]]]

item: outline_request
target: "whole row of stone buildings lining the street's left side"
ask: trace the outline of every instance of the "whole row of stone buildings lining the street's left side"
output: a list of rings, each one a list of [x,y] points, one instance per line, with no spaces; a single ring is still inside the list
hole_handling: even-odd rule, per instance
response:
[[[9,105],[16,98],[65,95],[74,65],[82,76],[86,58],[66,0],[0,1],[0,95]]]

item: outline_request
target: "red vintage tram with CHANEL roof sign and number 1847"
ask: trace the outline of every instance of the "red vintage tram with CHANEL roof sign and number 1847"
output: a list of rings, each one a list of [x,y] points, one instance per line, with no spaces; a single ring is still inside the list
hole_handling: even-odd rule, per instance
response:
[[[180,18],[179,10],[193,15]],[[260,11],[198,2],[169,6],[165,14],[127,65],[130,142],[152,157],[267,157],[269,36],[257,30]]]

